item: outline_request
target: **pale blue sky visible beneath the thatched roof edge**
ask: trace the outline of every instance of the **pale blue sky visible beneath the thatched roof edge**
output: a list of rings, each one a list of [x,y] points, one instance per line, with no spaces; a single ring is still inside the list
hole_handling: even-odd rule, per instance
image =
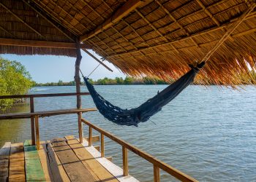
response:
[[[94,56],[96,53],[92,52]],[[75,74],[75,58],[69,58],[67,56],[53,56],[53,55],[0,55],[2,58],[7,58],[8,60],[17,60],[26,67],[26,70],[32,76],[32,79],[38,83],[46,82],[58,82],[62,80],[63,82],[69,82],[74,80]],[[81,61],[80,69],[83,71],[84,76],[88,76],[91,71],[98,66],[98,62],[91,58],[86,52],[82,50],[83,59]],[[107,60],[104,61],[113,72],[108,71],[108,69],[103,66],[99,66],[93,74],[91,74],[91,79],[101,79],[107,76],[108,78],[115,78],[116,76],[125,77],[121,71],[119,71]]]

